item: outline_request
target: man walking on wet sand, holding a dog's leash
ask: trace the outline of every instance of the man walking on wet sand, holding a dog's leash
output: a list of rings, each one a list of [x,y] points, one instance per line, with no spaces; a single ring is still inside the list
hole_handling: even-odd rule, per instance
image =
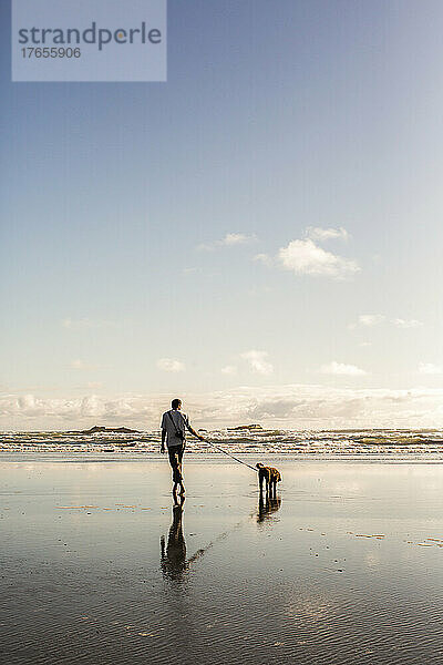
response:
[[[179,494],[184,497],[185,485],[183,484],[182,475],[182,459],[185,450],[185,436],[188,430],[194,437],[197,437],[200,441],[204,438],[197,434],[197,432],[190,427],[187,416],[181,412],[182,400],[173,399],[171,402],[172,410],[163,413],[162,418],[162,447],[161,452],[165,452],[165,441],[167,444],[167,452],[169,454],[169,463],[173,470],[173,495],[175,502],[177,501],[177,489],[181,488]]]

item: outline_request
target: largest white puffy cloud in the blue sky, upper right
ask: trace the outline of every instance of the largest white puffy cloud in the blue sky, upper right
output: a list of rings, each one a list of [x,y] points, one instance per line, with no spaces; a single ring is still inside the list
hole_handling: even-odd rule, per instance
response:
[[[284,268],[296,275],[313,275],[344,279],[360,270],[357,262],[326,252],[311,239],[291,241],[278,253]]]

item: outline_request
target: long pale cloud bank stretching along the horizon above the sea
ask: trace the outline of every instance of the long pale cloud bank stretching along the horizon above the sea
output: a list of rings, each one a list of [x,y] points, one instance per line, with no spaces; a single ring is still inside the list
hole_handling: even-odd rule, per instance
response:
[[[158,429],[171,395],[121,395],[43,399],[0,396],[0,423],[7,430],[83,429],[97,421]],[[443,389],[351,389],[310,385],[241,387],[182,395],[196,427],[260,422],[288,429],[443,427]]]

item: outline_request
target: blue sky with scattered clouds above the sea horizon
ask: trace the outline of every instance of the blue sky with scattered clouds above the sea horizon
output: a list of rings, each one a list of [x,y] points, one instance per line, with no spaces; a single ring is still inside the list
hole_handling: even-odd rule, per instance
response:
[[[443,4],[168,2],[166,83],[12,83],[0,428],[443,427]]]

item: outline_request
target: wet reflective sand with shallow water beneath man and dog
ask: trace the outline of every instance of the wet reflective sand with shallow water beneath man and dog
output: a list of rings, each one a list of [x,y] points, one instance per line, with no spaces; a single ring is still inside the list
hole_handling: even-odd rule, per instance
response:
[[[2,456],[3,662],[442,663],[443,466],[269,459]]]

